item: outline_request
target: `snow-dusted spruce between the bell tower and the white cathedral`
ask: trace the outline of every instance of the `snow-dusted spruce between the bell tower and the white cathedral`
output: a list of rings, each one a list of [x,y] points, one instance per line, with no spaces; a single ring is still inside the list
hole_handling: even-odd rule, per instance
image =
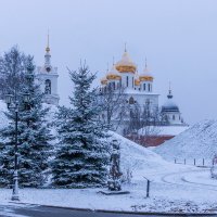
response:
[[[91,90],[95,75],[85,65],[69,75],[75,85],[69,98],[73,108],[60,107],[58,114],[60,149],[52,163],[53,186],[102,187],[108,173],[107,132],[99,118],[97,90]]]

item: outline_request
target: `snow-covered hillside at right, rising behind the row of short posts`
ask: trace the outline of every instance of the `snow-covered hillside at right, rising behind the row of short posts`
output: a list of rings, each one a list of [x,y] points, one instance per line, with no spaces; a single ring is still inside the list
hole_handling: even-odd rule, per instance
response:
[[[217,153],[217,120],[195,124],[154,151],[166,159],[208,159]]]

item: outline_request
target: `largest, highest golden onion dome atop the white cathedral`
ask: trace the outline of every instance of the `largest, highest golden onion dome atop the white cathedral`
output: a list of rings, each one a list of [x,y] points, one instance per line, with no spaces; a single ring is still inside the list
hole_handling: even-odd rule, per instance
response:
[[[120,61],[116,63],[116,69],[119,73],[135,73],[137,69],[136,64],[131,61],[128,52],[125,50]]]

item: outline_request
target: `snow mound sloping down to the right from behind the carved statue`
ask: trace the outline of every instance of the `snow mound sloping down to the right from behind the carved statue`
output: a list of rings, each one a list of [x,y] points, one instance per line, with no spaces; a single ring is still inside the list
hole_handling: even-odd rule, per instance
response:
[[[112,132],[111,140],[116,139],[120,143],[120,166],[123,173],[132,171],[133,180],[143,180],[149,174],[161,173],[168,169],[170,165],[158,154],[143,148],[115,132]]]

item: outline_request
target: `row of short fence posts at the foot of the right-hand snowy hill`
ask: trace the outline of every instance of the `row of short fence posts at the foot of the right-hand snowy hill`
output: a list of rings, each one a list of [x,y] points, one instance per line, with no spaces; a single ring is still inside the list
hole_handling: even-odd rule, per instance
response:
[[[175,158],[174,163],[193,165],[193,166],[199,166],[199,167],[210,167],[214,165],[213,159],[206,159],[206,158],[183,158],[183,159]]]

